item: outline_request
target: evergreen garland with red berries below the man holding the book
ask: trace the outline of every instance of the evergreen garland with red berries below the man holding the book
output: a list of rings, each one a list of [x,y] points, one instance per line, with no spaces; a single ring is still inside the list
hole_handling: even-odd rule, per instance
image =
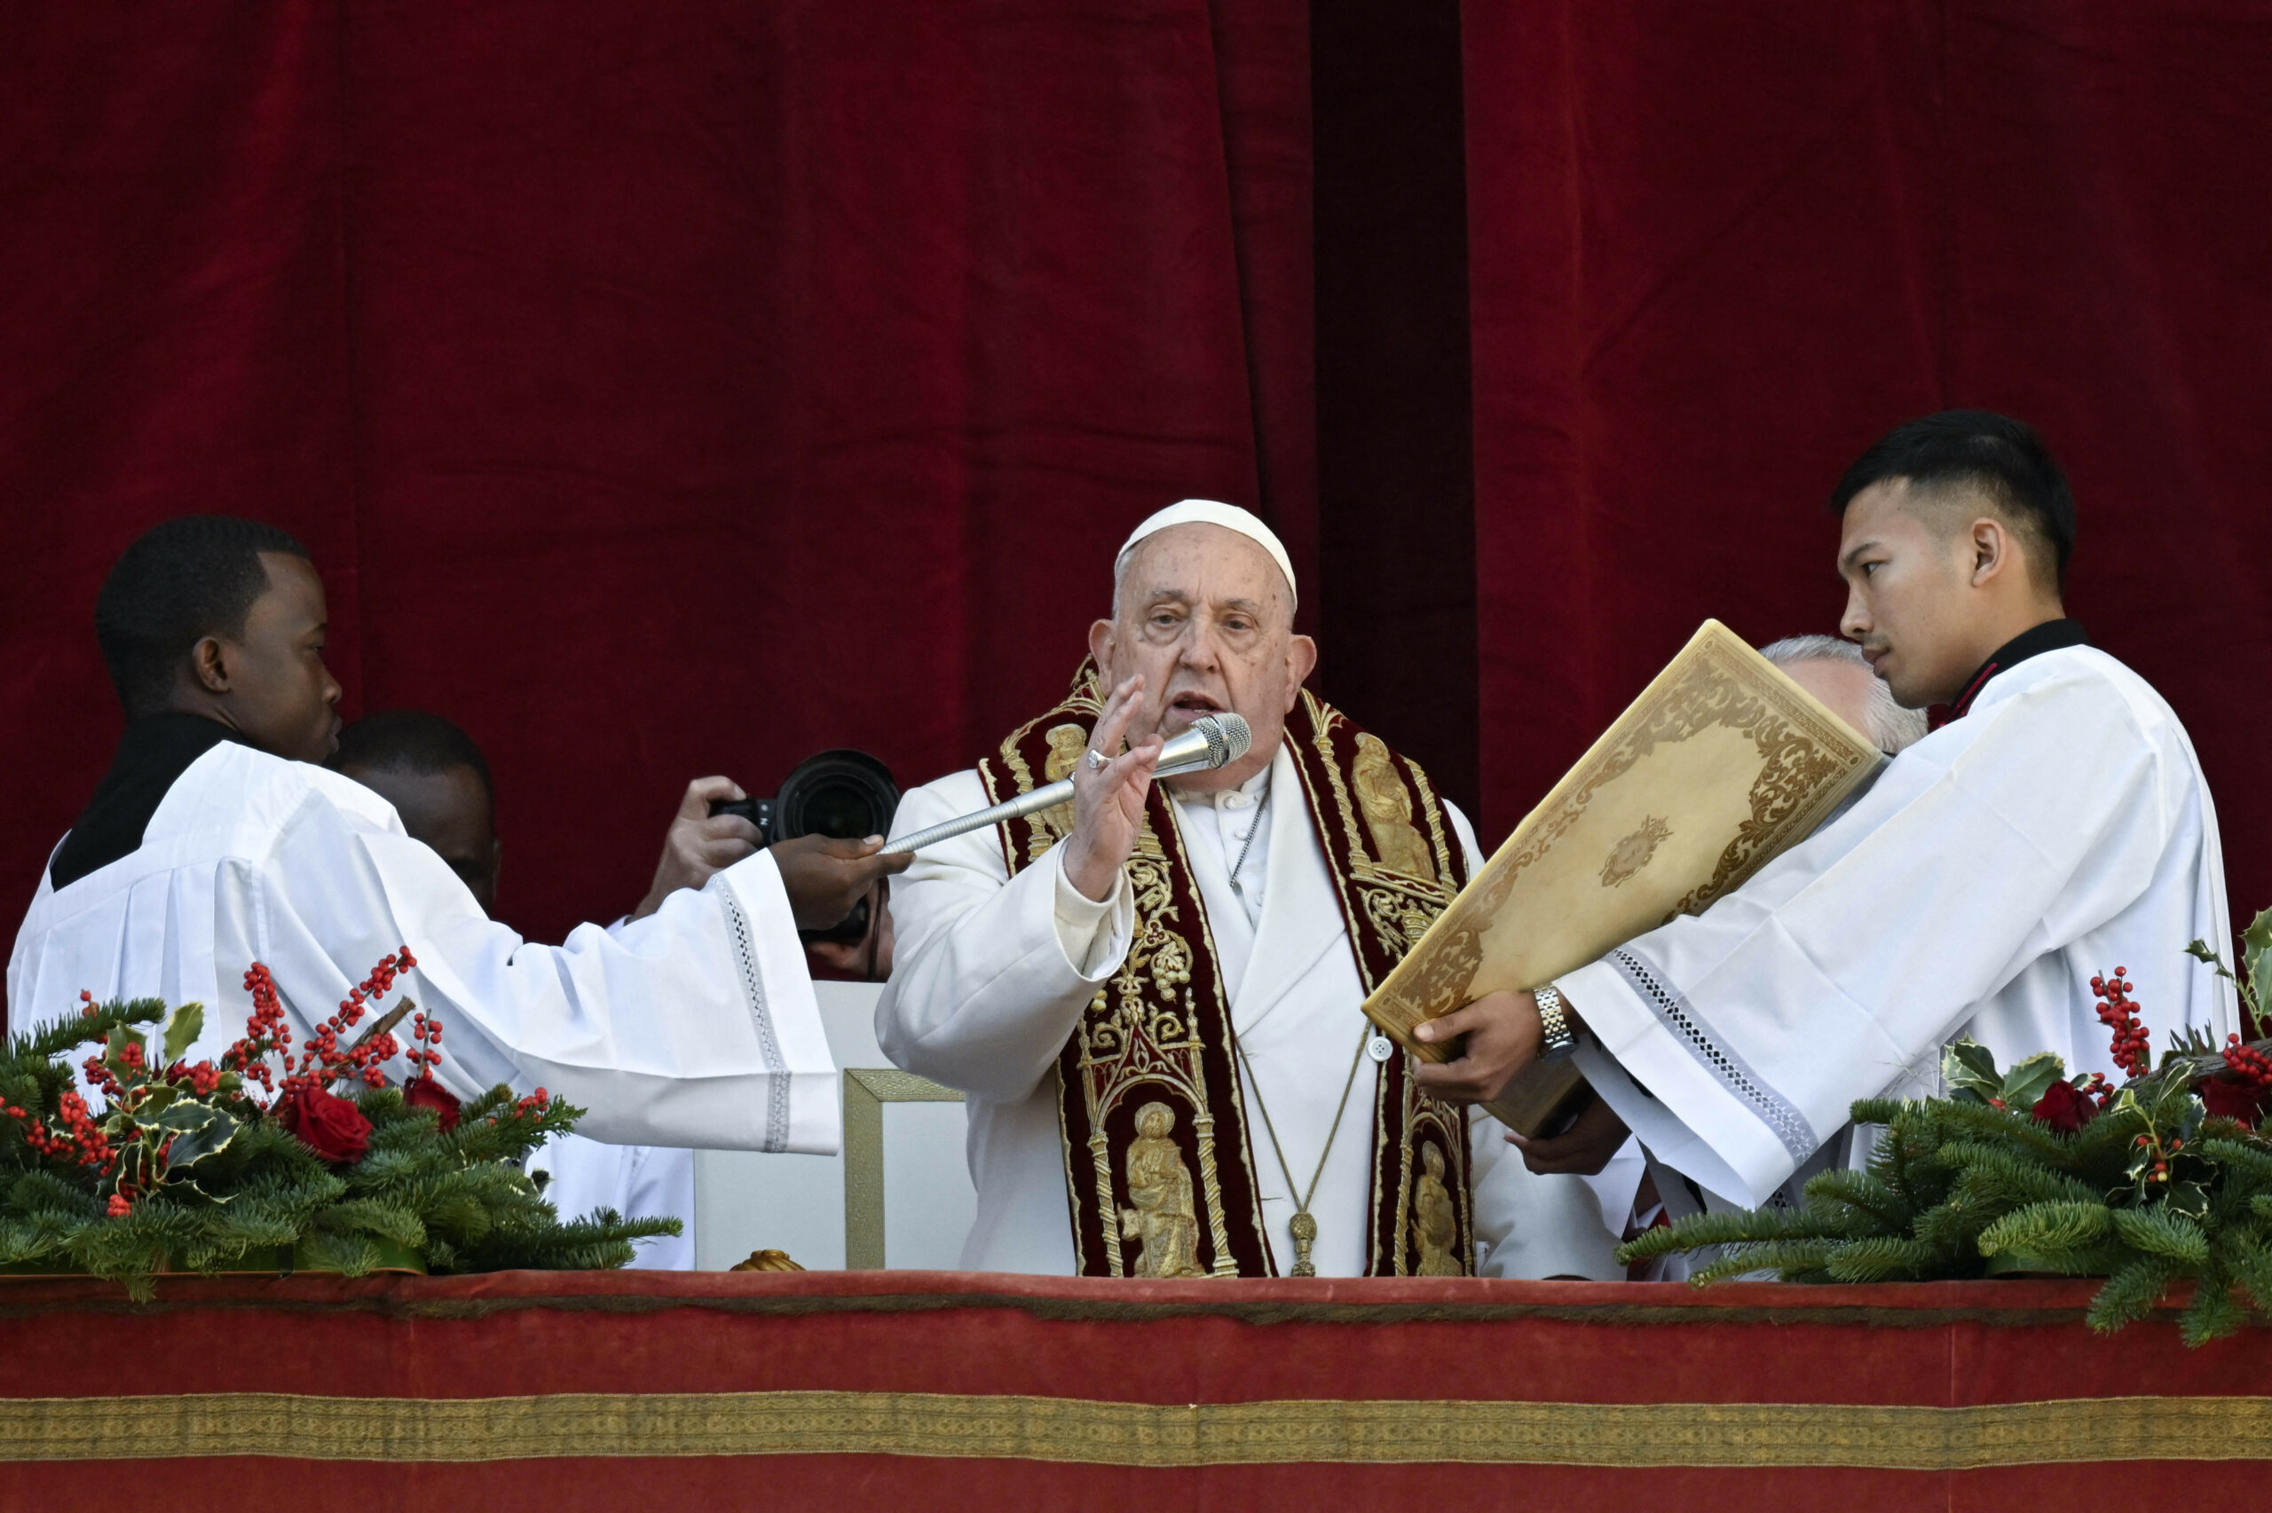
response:
[[[2245,936],[2252,1011],[2272,986],[2267,945],[2272,911]],[[2202,943],[2190,952],[2229,977]],[[1854,1104],[1856,1125],[1883,1125],[1868,1168],[1813,1177],[1799,1209],[1695,1213],[1618,1259],[1706,1252],[1697,1286],[1761,1270],[1784,1281],[2104,1277],[2088,1311],[2097,1331],[2145,1318],[2192,1277],[2188,1345],[2272,1315],[2272,1140],[2254,1127],[2272,1093],[2272,1043],[2181,1038],[2147,1070],[2129,984],[2118,970],[2095,986],[2118,1059],[2136,1047],[2129,1081],[2068,1081],[2047,1054],[2006,1072],[1958,1040],[1943,1061],[1949,1097]]]

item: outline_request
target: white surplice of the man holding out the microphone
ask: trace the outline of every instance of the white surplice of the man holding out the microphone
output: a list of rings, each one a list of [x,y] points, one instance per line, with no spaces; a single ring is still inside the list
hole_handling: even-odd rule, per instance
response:
[[[459,1097],[543,1086],[611,1143],[836,1150],[836,1072],[770,854],[616,934],[529,945],[377,793],[232,741],[175,779],[139,850],[66,888],[41,879],[9,1006],[32,1027],[82,988],[198,1000],[195,1061],[243,1034],[243,972],[264,961],[307,1045],[400,945],[418,970],[398,990],[441,1018],[436,1075]]]

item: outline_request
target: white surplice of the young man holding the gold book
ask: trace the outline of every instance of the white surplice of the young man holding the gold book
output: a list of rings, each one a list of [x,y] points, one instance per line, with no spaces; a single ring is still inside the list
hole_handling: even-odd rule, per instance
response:
[[[2192,743],[2106,652],[1997,675],[1804,843],[1697,918],[1561,979],[1579,1065],[1661,1163],[1761,1204],[1858,1097],[1938,1090],[1943,1045],[2115,1075],[2090,977],[2156,1050],[2238,1027],[2217,816]],[[1663,1186],[1663,1184],[1659,1184]]]

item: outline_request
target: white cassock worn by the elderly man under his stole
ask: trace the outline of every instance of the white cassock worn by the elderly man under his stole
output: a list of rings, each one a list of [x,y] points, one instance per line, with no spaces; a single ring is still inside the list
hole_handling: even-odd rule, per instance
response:
[[[1266,781],[1275,797],[1234,891],[1231,866],[1256,825]],[[900,800],[893,834],[986,802],[977,772],[954,772]],[[1306,1186],[1327,1150],[1350,1061],[1368,1038],[1359,1011],[1365,990],[1293,756],[1279,747],[1268,772],[1243,788],[1177,802],[1222,981],[1234,984],[1229,1009],[1245,1050],[1250,1156],[1272,1256],[1286,1274],[1293,1261],[1286,1220],[1300,1193],[1288,1193],[1263,1109],[1295,1184]],[[1445,809],[1475,866],[1468,820]],[[1054,1065],[1088,1000],[1127,956],[1136,916],[1127,875],[1111,897],[1091,902],[1066,879],[1059,845],[1011,879],[1000,831],[979,829],[925,847],[893,884],[891,911],[897,950],[875,1034],[895,1065],[966,1093],[977,1220],[961,1265],[1070,1274],[1072,1213]],[[1354,1277],[1365,1268],[1375,1077],[1365,1059],[1311,1202],[1320,1277]],[[1488,1118],[1472,1127],[1479,1270],[1622,1277],[1609,1254],[1615,1236],[1602,1227],[1593,1193],[1574,1177],[1529,1175],[1502,1134]]]

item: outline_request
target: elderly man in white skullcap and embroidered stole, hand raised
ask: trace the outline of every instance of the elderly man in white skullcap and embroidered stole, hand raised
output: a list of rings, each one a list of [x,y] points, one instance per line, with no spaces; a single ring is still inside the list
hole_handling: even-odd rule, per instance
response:
[[[1302,688],[1293,611],[1261,520],[1161,511],[1072,695],[902,800],[904,836],[1077,788],[893,888],[877,1040],[968,1095],[963,1265],[1615,1277],[1584,1184],[1529,1175],[1490,1120],[1470,1138],[1359,1011],[1477,850],[1420,768]],[[1250,722],[1247,756],[1154,786],[1159,743],[1209,711]]]

